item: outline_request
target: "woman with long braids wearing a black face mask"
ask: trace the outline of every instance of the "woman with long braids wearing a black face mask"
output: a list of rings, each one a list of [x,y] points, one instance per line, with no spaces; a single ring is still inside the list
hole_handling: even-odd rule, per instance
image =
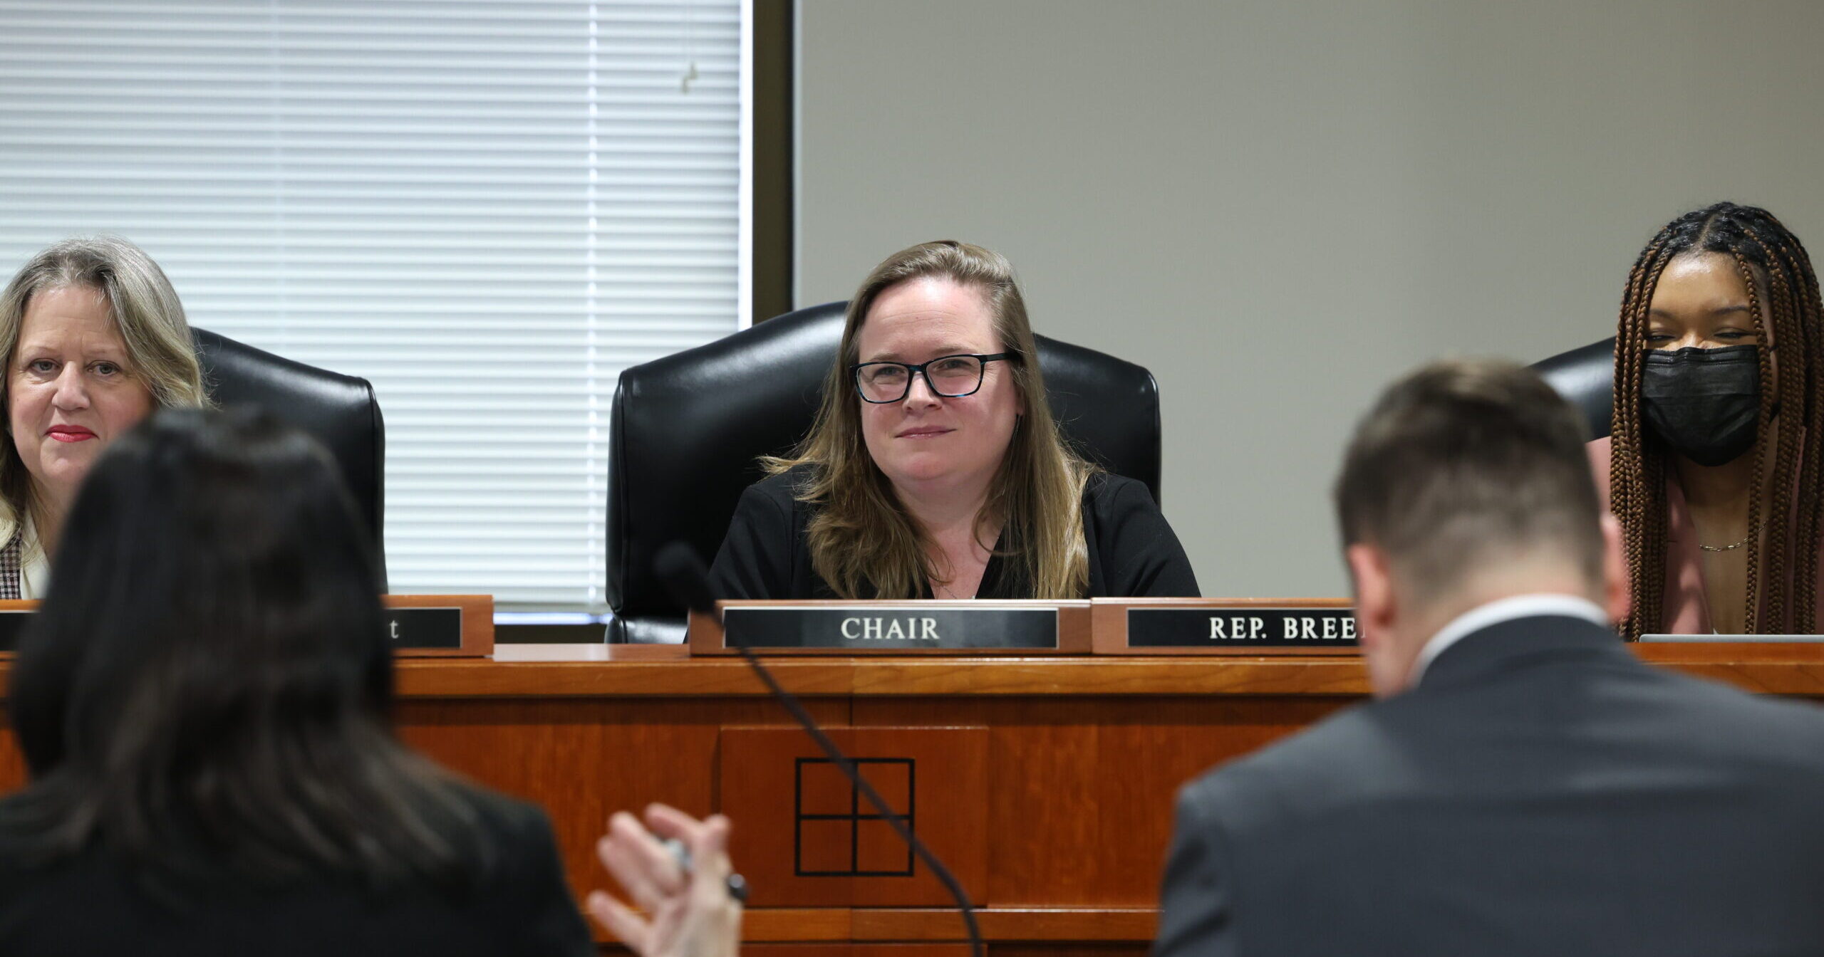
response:
[[[1611,437],[1591,443],[1622,521],[1629,640],[1819,627],[1824,306],[1773,213],[1669,222],[1622,297]]]

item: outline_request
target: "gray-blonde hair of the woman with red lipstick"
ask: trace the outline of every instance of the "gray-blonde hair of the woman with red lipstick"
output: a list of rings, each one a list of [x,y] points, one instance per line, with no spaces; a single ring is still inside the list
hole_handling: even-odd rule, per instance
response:
[[[117,235],[73,237],[31,257],[0,292],[0,414],[5,408],[13,352],[31,297],[40,292],[95,290],[108,303],[133,376],[159,408],[208,406],[197,346],[164,270],[146,250]],[[11,538],[31,501],[31,476],[11,441],[0,441],[0,532]],[[0,540],[4,541],[4,540]]]

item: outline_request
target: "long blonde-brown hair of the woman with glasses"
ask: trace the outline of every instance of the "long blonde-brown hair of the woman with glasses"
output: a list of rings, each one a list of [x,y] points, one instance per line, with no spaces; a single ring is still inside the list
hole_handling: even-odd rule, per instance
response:
[[[1000,253],[948,239],[899,250],[868,273],[848,301],[843,343],[824,377],[815,425],[792,456],[762,459],[773,474],[810,467],[797,496],[819,507],[806,529],[812,569],[841,598],[916,598],[927,581],[941,580],[925,532],[863,443],[861,399],[848,376],[859,359],[855,337],[874,301],[899,283],[928,275],[981,292],[994,334],[1012,354],[1007,365],[1025,405],[976,516],[976,538],[987,523],[1001,520],[1001,541],[1018,543],[1018,551],[1001,554],[1025,572],[1034,598],[1083,598],[1089,592],[1083,483],[1096,468],[1065,447],[1051,417],[1012,266]]]

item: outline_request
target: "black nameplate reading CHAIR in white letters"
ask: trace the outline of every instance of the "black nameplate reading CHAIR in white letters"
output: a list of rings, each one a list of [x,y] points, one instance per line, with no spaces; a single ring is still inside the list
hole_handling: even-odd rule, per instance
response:
[[[1058,647],[1058,609],[808,607],[722,612],[726,647],[1021,649]]]

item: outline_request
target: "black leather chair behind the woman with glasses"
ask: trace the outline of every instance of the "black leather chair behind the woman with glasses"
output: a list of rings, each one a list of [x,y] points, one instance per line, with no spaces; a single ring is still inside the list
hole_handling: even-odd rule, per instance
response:
[[[607,459],[609,642],[677,643],[684,609],[653,556],[688,541],[710,561],[755,458],[792,448],[817,414],[846,303],[826,303],[620,374]],[[1158,386],[1133,363],[1038,337],[1045,394],[1065,436],[1158,498]]]

